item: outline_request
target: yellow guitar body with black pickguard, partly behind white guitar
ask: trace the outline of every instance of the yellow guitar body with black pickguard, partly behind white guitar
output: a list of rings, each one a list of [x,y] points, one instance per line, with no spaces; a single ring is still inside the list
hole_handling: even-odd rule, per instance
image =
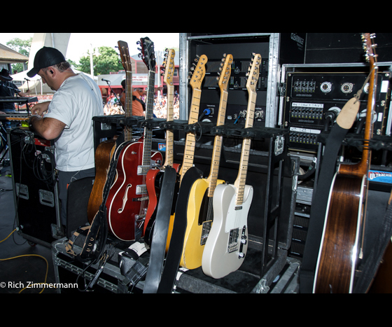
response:
[[[218,180],[217,183],[223,184],[225,181]],[[188,198],[188,224],[180,265],[190,270],[202,266],[204,246],[211,230],[214,210],[212,207],[213,197],[208,197],[208,190],[207,179],[197,179]]]

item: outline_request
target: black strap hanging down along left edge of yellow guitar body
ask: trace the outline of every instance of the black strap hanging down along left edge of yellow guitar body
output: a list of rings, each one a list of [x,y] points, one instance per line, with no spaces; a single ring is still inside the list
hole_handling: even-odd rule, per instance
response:
[[[183,252],[183,242],[187,226],[188,197],[193,183],[200,179],[202,172],[196,167],[192,167],[186,172],[181,181],[179,197],[177,198],[176,214],[174,218],[172,238],[170,239],[169,251],[165,267],[162,272],[157,293],[172,293],[179,270],[181,253]]]

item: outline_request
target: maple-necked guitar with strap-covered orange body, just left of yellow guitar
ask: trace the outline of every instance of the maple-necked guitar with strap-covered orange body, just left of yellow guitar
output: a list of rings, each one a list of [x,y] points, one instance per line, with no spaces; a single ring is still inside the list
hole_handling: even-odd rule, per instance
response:
[[[202,82],[206,75],[206,64],[208,62],[208,58],[206,55],[201,55],[195,59],[194,66],[191,68],[190,71],[190,86],[193,90],[192,94],[192,102],[190,106],[190,113],[188,123],[189,125],[193,125],[198,122],[199,120],[199,109],[200,109],[200,100],[202,98]],[[193,161],[195,159],[195,146],[196,146],[196,137],[193,133],[188,133],[186,135],[186,144],[185,144],[185,151],[184,151],[184,158],[183,164],[181,165],[180,169],[180,190],[179,193],[189,193],[190,190],[181,188],[181,183],[183,181],[183,177],[185,176],[186,172],[190,168],[193,167]],[[180,197],[180,195],[179,195]],[[170,239],[172,237],[173,225],[174,225],[174,218],[175,213],[170,217],[169,223],[169,232],[167,235],[167,246],[166,251],[169,251],[169,244]]]

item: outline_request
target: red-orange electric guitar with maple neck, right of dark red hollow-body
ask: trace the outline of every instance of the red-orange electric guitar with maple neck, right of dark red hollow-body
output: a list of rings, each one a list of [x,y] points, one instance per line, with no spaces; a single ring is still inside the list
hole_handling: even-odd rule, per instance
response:
[[[165,54],[165,61],[163,67],[165,75],[163,81],[167,85],[167,121],[173,121],[174,116],[174,57],[176,52],[173,49],[167,50]],[[151,169],[147,173],[146,186],[148,192],[148,209],[146,219],[144,221],[144,242],[151,246],[153,237],[153,228],[155,225],[155,218],[158,209],[158,200],[162,190],[163,176],[165,167],[170,166],[179,172],[179,164],[174,163],[174,134],[172,130],[166,131],[166,156],[163,169]],[[172,210],[174,211],[174,209]]]

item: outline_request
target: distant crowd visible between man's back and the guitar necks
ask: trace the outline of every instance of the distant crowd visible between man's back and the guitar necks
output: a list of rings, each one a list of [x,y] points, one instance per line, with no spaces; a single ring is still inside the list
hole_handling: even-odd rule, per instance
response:
[[[117,97],[108,97],[107,102],[104,106],[105,115],[123,115],[124,110],[119,100],[120,95]],[[144,103],[146,103],[146,96],[142,97]],[[167,95],[161,95],[160,97],[154,97],[154,115],[156,118],[167,118]],[[174,95],[174,119],[180,118],[180,104],[179,95]]]

